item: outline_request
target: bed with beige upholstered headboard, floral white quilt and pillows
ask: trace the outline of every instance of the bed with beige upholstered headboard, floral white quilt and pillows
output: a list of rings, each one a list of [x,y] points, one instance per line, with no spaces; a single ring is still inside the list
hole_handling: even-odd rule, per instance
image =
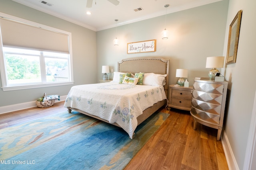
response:
[[[73,86],[64,107],[69,113],[78,111],[121,127],[132,139],[136,127],[166,105],[168,71],[169,60],[166,59],[123,59],[118,62],[113,81]],[[137,81],[143,84],[138,85]]]

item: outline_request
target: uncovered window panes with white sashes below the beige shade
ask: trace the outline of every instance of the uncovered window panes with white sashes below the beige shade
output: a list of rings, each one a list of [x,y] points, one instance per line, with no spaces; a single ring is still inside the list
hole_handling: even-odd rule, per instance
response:
[[[68,54],[3,47],[7,86],[70,81]]]

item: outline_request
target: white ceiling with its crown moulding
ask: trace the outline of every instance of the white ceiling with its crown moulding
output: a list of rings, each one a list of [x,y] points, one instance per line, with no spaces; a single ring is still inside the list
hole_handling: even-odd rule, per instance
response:
[[[92,8],[86,8],[87,0],[43,0],[48,4],[43,4],[42,0],[13,1],[88,29],[100,31],[221,0],[118,0],[120,3],[117,6],[108,0],[93,0]],[[165,4],[170,6],[165,8]],[[135,12],[134,9],[137,8],[143,10]],[[87,15],[87,11],[92,14]]]

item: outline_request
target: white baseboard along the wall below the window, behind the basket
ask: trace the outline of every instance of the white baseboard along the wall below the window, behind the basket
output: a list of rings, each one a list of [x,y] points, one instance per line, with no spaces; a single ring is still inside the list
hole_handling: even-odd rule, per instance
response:
[[[67,97],[67,95],[66,96],[60,96],[60,100],[55,100],[55,102],[62,102],[64,100],[66,100],[66,97]],[[37,107],[36,106],[36,101],[13,104],[13,105],[9,105],[9,106],[2,106],[2,107],[0,107],[0,114],[9,113],[9,112],[12,112],[12,111],[23,110],[23,109],[28,109],[28,108],[31,108],[31,107]]]

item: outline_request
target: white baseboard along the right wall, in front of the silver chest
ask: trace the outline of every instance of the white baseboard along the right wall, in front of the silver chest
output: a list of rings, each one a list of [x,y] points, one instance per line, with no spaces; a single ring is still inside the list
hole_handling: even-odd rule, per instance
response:
[[[224,153],[226,156],[227,164],[228,164],[228,169],[230,170],[239,170],[238,164],[236,162],[236,158],[234,156],[234,153],[232,151],[232,148],[230,146],[230,143],[228,141],[228,137],[225,131],[223,131],[223,135],[221,138],[222,146],[224,149]]]

